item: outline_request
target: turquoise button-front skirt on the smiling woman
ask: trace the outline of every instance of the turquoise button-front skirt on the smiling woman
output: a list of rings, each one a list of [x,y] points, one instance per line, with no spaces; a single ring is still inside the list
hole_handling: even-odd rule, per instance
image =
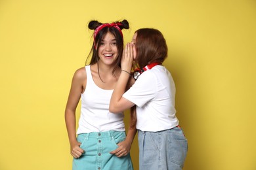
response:
[[[81,143],[81,148],[85,150],[80,158],[73,159],[73,170],[112,170],[124,169],[133,170],[130,154],[118,158],[110,154],[112,150],[118,148],[117,143],[125,140],[125,131],[104,131],[81,133],[77,136],[77,141]]]

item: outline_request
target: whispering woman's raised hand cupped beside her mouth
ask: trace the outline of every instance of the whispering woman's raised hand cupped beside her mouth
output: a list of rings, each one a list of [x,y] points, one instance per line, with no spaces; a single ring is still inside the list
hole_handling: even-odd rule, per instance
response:
[[[123,56],[121,58],[121,69],[131,73],[131,67],[133,65],[133,44],[128,42],[123,50]]]

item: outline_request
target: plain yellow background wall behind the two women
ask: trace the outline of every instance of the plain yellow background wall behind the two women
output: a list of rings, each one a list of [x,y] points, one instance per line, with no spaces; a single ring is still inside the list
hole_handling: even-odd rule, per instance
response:
[[[89,20],[160,29],[188,138],[184,169],[256,169],[256,1],[0,0],[0,169],[71,169],[64,108]],[[78,116],[78,115],[77,115]],[[138,169],[137,138],[131,150]]]

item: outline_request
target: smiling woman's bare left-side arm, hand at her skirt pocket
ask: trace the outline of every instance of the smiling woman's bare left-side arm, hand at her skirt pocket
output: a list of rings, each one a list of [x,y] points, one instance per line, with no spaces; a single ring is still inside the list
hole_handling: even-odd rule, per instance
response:
[[[65,109],[65,121],[68,131],[68,139],[70,141],[70,153],[74,158],[79,158],[83,150],[79,147],[81,143],[77,142],[75,134],[75,109],[79,103],[81,93],[83,91],[83,82],[86,80],[86,73],[84,68],[75,72],[72,79],[72,86],[68,96],[68,102]]]

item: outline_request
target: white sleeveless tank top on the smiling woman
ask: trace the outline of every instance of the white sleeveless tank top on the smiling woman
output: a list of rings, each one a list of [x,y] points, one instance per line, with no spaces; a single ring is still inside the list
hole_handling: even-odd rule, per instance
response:
[[[125,131],[123,112],[110,112],[109,104],[113,90],[99,88],[91,75],[90,65],[85,66],[87,83],[81,94],[81,115],[77,134],[98,131]]]

